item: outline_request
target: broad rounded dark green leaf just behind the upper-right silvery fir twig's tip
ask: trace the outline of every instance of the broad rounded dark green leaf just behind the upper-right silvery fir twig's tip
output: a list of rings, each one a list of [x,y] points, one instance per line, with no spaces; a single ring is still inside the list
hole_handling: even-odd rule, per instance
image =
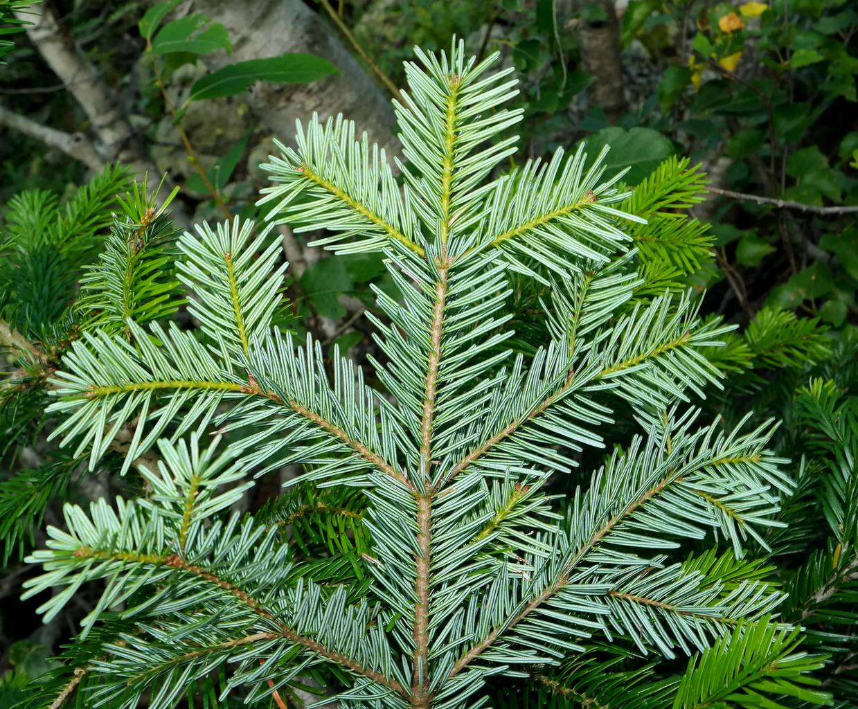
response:
[[[613,175],[628,167],[623,181],[628,185],[637,185],[658,167],[665,158],[674,155],[674,144],[657,130],[651,128],[632,128],[625,130],[616,126],[603,128],[584,141],[589,155],[589,164],[599,155],[605,145],[611,147],[602,164],[607,168],[606,175]]]

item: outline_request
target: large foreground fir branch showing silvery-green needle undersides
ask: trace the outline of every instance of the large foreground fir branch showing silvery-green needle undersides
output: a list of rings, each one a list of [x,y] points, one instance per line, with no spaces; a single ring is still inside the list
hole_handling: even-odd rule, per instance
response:
[[[272,326],[283,270],[269,229],[237,219],[178,239],[199,336],[160,324],[170,289],[153,272],[142,300],[114,277],[127,259],[87,277],[88,307],[116,307],[53,373],[52,435],[90,468],[124,431],[123,472],[148,451],[158,462],[139,466],[137,499],[66,506],[65,529],[30,556],[45,619],[105,585],[73,674],[33,703],[175,706],[199,683],[266,703],[308,676],[342,706],[480,706],[498,676],[585,706],[593,689],[624,707],[824,703],[807,676],[821,660],[795,652],[797,631],[773,617],[782,590],[745,558],[795,488],[767,449],[772,426],[701,421],[688,403],[717,384],[707,354],[730,330],[676,292],[702,230],[668,215],[698,177],[674,161],[631,194],[579,149],[493,179],[521,118],[503,108],[509,71],[461,45],[417,53],[396,105],[400,181],[342,118],[313,118],[265,166],[271,219],[328,230],[317,243],[337,253],[384,253],[396,296],[377,290],[370,316],[377,386]],[[635,234],[688,247],[662,259],[660,294]],[[545,338],[525,354],[509,346],[519,279],[544,293]],[[615,402],[641,433],[585,476]],[[287,465],[303,470],[294,492],[231,512]],[[551,494],[568,475],[576,493]],[[293,530],[317,514],[347,519],[353,542],[302,558]],[[704,539],[728,548],[686,554]],[[599,687],[611,661],[589,658],[611,648],[694,657],[681,679],[617,668]]]

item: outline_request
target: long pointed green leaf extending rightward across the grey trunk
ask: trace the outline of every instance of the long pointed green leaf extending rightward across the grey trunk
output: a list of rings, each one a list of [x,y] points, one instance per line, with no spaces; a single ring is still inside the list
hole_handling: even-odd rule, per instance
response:
[[[254,82],[309,83],[336,74],[333,64],[313,54],[283,54],[230,64],[198,79],[190,100],[220,99],[250,88]]]

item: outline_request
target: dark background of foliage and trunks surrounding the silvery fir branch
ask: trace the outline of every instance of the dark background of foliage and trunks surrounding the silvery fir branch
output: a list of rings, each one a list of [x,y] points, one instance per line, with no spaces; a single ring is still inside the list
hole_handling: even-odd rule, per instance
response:
[[[53,24],[27,27],[31,11]],[[184,307],[159,305],[176,285],[178,231],[263,216],[257,165],[272,136],[287,139],[312,111],[345,112],[396,151],[387,101],[402,61],[453,35],[480,57],[500,52],[521,80],[509,167],[584,141],[591,155],[611,146],[609,168],[631,167],[638,198],[653,171],[692,176],[690,194],[705,174],[704,200],[659,207],[690,207],[698,221],[633,234],[651,288],[638,295],[691,286],[704,313],[738,325],[712,355],[729,376],[705,406],[730,423],[748,411],[783,421],[779,451],[800,485],[784,506],[788,530],[768,540],[791,594],[782,615],[807,627],[805,649],[829,656],[823,683],[837,706],[858,706],[856,28],[848,0],[0,0],[0,707],[51,670],[51,651],[94,598],[82,592],[72,615],[39,627],[16,600],[31,573],[22,552],[59,501],[126,484],[112,476],[121,450],[83,479],[79,460],[45,443],[44,381],[64,348],[94,324],[122,327],[129,312],[192,328]],[[123,197],[144,173],[148,187]],[[167,195],[175,223],[155,213]],[[330,258],[288,225],[275,234],[293,266],[282,326],[359,361],[372,353],[360,316],[371,284],[390,287],[380,260]],[[104,259],[124,259],[135,288],[99,284]],[[87,310],[88,282],[117,289],[117,312]],[[541,295],[514,288],[523,351],[544,327],[529,308]],[[633,425],[619,424],[617,440]],[[293,524],[296,553],[350,550],[363,583],[360,499],[277,494],[277,482],[262,486],[254,504]],[[633,684],[644,665],[596,649],[585,667],[543,676],[539,691],[498,685],[495,706],[595,706],[558,688],[623,668],[615,676]]]

